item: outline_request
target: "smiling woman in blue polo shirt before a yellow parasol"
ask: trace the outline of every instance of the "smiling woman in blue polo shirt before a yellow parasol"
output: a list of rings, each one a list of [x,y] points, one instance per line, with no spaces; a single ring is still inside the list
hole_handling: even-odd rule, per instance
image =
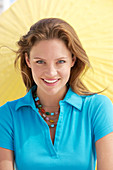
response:
[[[15,65],[28,93],[0,108],[0,170],[113,170],[113,107],[91,93],[90,67],[73,30],[42,19],[18,42]]]

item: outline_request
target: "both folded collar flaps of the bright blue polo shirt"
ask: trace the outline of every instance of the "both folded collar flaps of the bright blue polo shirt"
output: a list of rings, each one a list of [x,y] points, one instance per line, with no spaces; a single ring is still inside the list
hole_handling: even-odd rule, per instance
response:
[[[32,96],[32,91],[36,90],[36,86],[33,86],[30,91],[21,99],[18,100],[16,104],[16,110],[23,106],[30,106],[35,109],[35,103]],[[70,105],[73,105],[78,110],[82,109],[83,105],[83,96],[80,96],[72,91],[71,87],[69,88],[65,98],[62,100],[63,102],[67,102]]]

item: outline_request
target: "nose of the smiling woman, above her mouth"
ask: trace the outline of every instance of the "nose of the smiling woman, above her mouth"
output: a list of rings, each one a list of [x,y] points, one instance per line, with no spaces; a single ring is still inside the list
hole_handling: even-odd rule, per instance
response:
[[[57,69],[53,64],[49,64],[45,71],[45,76],[54,77],[57,75]]]

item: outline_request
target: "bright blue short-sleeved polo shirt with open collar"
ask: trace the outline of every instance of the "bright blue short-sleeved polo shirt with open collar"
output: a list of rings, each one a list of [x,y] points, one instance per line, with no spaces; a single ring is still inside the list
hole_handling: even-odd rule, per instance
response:
[[[113,106],[103,95],[69,88],[60,101],[54,145],[31,89],[0,107],[0,147],[14,151],[17,170],[94,170],[95,142],[113,132]]]

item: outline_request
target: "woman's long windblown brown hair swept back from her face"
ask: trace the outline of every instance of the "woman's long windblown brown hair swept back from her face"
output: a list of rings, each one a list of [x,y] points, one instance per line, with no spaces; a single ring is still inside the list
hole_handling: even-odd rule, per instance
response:
[[[35,85],[31,69],[25,61],[25,53],[28,57],[33,45],[41,40],[61,39],[71,51],[72,57],[76,57],[76,63],[71,68],[70,79],[68,81],[72,90],[80,95],[92,94],[82,83],[81,76],[90,67],[88,56],[83,49],[75,30],[64,20],[59,18],[46,18],[39,20],[31,26],[29,32],[18,41],[19,49],[15,60],[15,67],[20,59],[20,69],[27,91]]]

